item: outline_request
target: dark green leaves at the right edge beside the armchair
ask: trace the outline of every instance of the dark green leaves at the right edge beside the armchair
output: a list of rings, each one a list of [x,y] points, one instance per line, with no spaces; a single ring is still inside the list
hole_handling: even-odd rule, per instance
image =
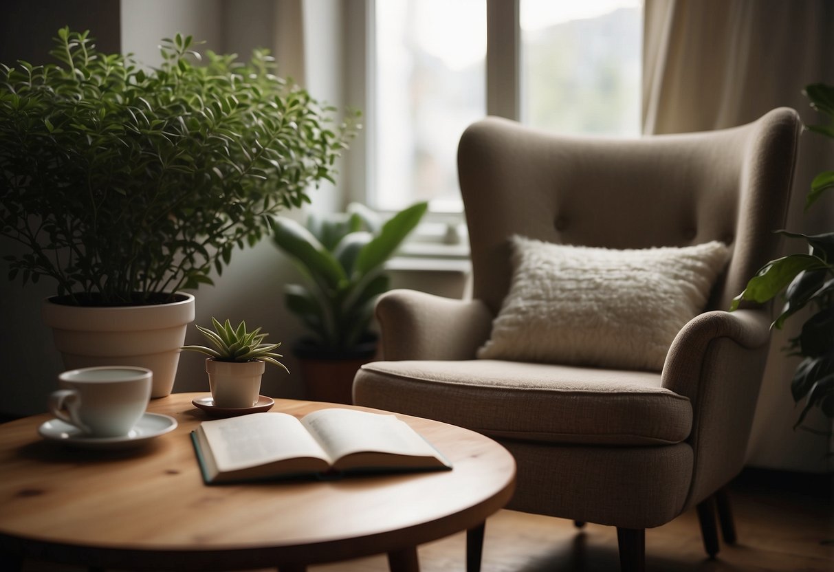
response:
[[[834,138],[834,87],[814,83],[805,88],[811,107],[825,114],[828,125],[810,125],[814,133]],[[820,173],[811,182],[805,208],[834,188],[834,171]],[[787,350],[801,356],[791,381],[794,401],[804,404],[796,420],[799,426],[811,409],[819,407],[834,418],[834,233],[807,235],[780,231],[808,244],[807,254],[790,254],[772,260],[750,279],[746,289],[733,299],[731,310],[741,300],[763,303],[781,294],[784,306],[773,322],[781,329],[785,320],[801,309],[810,309],[810,318],[801,333],[789,341]],[[816,431],[815,431],[816,432]]]

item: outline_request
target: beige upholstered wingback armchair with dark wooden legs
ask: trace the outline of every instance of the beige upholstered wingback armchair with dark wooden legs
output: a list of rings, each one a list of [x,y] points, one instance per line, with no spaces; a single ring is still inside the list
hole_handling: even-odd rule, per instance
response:
[[[645,529],[691,507],[716,554],[713,507],[732,542],[721,490],[744,463],[770,338],[768,309],[726,309],[776,254],[800,127],[787,108],[738,128],[636,140],[475,123],[458,153],[472,299],[380,299],[384,361],[356,374],[354,403],[498,440],[518,465],[508,508],[617,527],[623,570],[644,568]],[[478,359],[515,284],[514,235],[612,249],[721,241],[730,253],[662,368]],[[470,531],[470,570],[482,542],[482,527]]]

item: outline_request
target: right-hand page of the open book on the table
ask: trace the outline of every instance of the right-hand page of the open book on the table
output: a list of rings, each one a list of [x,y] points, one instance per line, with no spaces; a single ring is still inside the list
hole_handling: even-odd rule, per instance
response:
[[[393,414],[321,409],[305,415],[301,423],[319,439],[332,459],[367,451],[437,457],[434,447]]]

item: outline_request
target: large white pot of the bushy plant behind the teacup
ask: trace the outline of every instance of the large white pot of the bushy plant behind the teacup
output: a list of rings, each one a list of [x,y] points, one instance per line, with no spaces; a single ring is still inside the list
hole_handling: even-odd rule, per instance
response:
[[[171,393],[179,348],[194,319],[194,297],[178,293],[170,304],[86,307],[46,299],[43,321],[53,329],[66,369],[134,365],[153,371],[151,397]]]

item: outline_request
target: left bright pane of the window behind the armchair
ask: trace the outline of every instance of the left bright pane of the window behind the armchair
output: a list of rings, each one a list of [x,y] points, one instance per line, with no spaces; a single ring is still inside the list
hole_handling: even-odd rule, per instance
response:
[[[460,134],[485,115],[485,0],[375,3],[371,202],[460,212]]]

